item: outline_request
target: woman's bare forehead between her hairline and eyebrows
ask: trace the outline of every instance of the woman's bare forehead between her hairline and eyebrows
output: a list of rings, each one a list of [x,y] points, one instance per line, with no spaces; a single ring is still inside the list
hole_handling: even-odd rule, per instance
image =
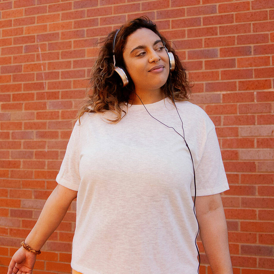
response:
[[[135,32],[131,33],[127,37],[127,42],[125,44],[124,50],[131,51],[138,45],[150,45],[159,39],[161,38],[151,29],[147,29],[147,28],[137,29]]]

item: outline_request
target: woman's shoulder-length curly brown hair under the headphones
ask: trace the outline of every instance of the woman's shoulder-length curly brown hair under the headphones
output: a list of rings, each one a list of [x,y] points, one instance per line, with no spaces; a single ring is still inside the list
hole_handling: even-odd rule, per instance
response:
[[[121,26],[115,40],[116,66],[118,64],[119,67],[125,68],[123,52],[127,43],[127,37],[141,28],[150,29],[157,34],[163,43],[166,43],[167,50],[172,52],[175,58],[175,70],[172,73],[169,72],[166,83],[161,87],[164,98],[169,97],[173,104],[175,104],[174,100],[188,101],[192,86],[190,86],[187,79],[186,69],[183,68],[178,55],[166,38],[158,32],[156,24],[150,21],[147,16],[141,16]],[[103,41],[97,41],[97,43],[103,43],[103,46],[100,48],[98,59],[91,69],[86,88],[86,99],[75,118],[75,121],[78,119],[79,123],[80,117],[85,112],[104,113],[106,110],[110,110],[116,114],[116,119],[108,119],[108,121],[114,124],[118,123],[127,114],[123,107],[126,106],[128,110],[130,94],[134,92],[134,83],[129,79],[129,84],[123,87],[119,75],[114,70],[112,43],[115,34],[116,30],[110,32],[107,37],[103,38]],[[122,113],[124,113],[124,116],[122,116]]]

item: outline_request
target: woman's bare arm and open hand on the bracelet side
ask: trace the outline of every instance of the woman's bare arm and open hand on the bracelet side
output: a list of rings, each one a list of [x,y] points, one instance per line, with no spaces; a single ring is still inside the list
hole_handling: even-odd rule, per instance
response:
[[[25,243],[34,250],[40,250],[49,236],[63,220],[71,202],[77,197],[77,191],[57,185],[41,211],[41,214],[27,236]],[[7,274],[31,274],[36,255],[20,247],[13,255]]]

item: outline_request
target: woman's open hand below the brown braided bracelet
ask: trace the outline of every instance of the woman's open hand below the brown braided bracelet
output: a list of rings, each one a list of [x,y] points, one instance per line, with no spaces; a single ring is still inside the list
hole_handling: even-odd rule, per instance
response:
[[[20,247],[10,261],[7,274],[32,274],[36,254]]]

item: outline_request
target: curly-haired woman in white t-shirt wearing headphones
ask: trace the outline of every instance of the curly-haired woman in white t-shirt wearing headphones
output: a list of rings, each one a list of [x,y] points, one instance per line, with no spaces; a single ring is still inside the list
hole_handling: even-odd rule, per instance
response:
[[[141,17],[111,32],[90,83],[58,185],[8,274],[32,272],[75,197],[73,273],[197,273],[199,223],[213,273],[231,274],[215,127],[188,101],[185,70],[156,25]]]

